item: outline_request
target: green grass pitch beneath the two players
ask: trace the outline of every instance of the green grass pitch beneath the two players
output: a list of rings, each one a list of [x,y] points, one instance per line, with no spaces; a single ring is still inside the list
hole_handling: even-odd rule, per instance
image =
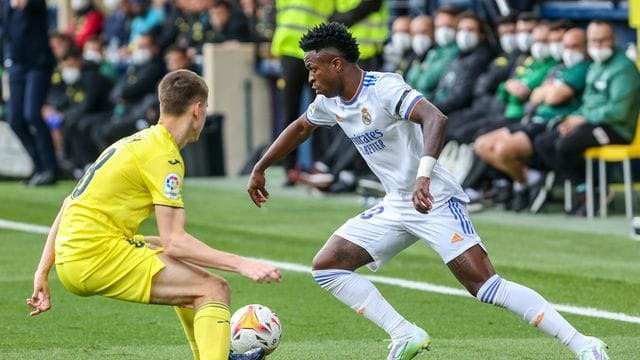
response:
[[[272,199],[258,209],[245,184],[245,178],[188,180],[187,230],[222,250],[309,266],[333,230],[363,210],[350,199],[306,198],[278,189],[275,182]],[[0,219],[48,226],[72,187],[69,182],[46,189],[0,183]],[[535,220],[531,224],[501,224],[485,216],[474,221],[503,277],[553,303],[640,316],[640,242],[580,229],[549,229],[536,226]],[[157,233],[153,219],[141,233]],[[55,271],[50,279],[53,308],[29,318],[25,298],[32,291],[44,240],[44,235],[0,229],[0,358],[190,358],[171,308],[80,298],[64,290]],[[424,244],[400,254],[379,274],[461,288]],[[283,271],[283,282],[269,285],[224,276],[232,288],[232,309],[261,303],[279,315],[283,338],[269,360],[386,358],[386,334],[319,288],[309,274]],[[555,339],[475,299],[378,287],[400,313],[432,336],[432,350],[423,359],[573,358]],[[640,324],[564,315],[580,331],[605,340],[613,359],[640,358]]]

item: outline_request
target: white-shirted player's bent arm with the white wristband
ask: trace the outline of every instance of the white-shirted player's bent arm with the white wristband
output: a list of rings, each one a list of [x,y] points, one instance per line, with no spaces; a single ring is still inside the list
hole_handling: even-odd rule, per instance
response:
[[[416,104],[409,120],[422,125],[424,136],[421,166],[418,169],[416,188],[413,191],[413,206],[417,211],[426,214],[433,206],[433,196],[429,191],[431,179],[428,175],[433,170],[435,159],[442,150],[447,131],[447,117],[430,102],[421,100]]]

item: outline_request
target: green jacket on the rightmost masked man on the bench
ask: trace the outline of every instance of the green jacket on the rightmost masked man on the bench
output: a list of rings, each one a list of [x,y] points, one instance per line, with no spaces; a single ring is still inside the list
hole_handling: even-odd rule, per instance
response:
[[[607,124],[631,141],[639,108],[640,75],[624,52],[616,50],[606,62],[591,64],[576,115],[584,116],[590,124]]]

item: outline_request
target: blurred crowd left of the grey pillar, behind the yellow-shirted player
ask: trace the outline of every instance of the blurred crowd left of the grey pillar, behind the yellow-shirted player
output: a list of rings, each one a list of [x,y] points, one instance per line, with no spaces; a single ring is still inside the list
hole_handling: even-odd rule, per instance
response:
[[[156,87],[167,71],[201,72],[203,44],[248,42],[258,34],[251,26],[262,28],[250,22],[253,1],[70,5],[69,23],[56,31],[46,22],[44,0],[4,2],[1,24],[11,45],[3,58],[12,83],[7,120],[36,165],[28,185],[82,176],[106,146],[157,121]]]

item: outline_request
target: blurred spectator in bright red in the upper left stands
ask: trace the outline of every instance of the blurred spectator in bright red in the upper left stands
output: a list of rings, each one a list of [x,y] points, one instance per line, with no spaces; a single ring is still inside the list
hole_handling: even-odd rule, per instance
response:
[[[91,1],[71,0],[73,16],[67,25],[67,33],[73,36],[79,49],[82,49],[87,39],[102,32],[104,18]]]

